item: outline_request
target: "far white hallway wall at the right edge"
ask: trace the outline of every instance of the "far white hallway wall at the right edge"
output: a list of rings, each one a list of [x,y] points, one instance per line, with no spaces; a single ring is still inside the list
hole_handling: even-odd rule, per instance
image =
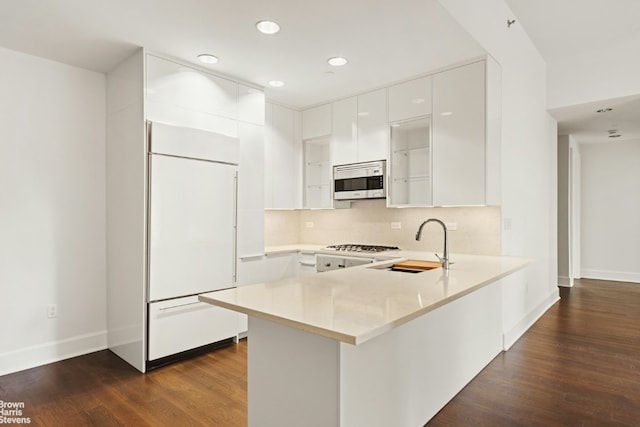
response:
[[[640,140],[580,144],[582,277],[640,282]]]

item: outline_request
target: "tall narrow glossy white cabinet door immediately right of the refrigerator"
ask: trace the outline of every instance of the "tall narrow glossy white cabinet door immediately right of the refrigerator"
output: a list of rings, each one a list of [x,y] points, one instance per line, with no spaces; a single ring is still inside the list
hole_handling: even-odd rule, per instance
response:
[[[238,256],[264,252],[264,127],[238,123]]]

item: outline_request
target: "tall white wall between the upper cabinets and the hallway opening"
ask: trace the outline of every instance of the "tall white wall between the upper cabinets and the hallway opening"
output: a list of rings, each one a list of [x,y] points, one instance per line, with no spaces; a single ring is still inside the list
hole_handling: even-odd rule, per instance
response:
[[[502,252],[535,263],[504,286],[505,347],[558,298],[556,124],[546,65],[503,0],[439,0],[502,68]]]

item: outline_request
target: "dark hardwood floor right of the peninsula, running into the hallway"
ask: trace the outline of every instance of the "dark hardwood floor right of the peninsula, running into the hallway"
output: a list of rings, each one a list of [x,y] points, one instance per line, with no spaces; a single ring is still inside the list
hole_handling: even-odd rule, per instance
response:
[[[560,294],[427,425],[640,426],[640,284]]]

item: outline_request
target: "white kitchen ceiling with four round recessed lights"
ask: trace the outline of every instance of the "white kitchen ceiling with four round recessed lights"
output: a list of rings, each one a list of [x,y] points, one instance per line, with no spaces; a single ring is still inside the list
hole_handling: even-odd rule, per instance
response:
[[[258,33],[262,19],[281,32]],[[188,62],[211,53],[217,72],[286,82],[267,96],[296,107],[484,54],[436,0],[8,0],[0,46],[100,72],[139,46]],[[337,55],[349,63],[329,66]]]

